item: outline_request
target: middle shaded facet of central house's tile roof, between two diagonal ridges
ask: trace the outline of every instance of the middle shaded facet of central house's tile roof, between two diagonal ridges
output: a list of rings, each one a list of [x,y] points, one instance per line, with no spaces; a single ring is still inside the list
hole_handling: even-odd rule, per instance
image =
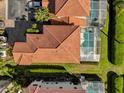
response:
[[[47,31],[43,34],[27,34],[27,42],[31,42],[37,48],[56,48],[59,45]]]

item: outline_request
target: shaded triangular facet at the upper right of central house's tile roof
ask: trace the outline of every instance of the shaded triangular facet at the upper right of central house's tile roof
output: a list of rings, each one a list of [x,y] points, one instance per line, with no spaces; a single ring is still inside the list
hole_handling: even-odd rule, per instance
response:
[[[72,32],[77,29],[78,26],[73,25],[49,25],[45,26],[45,32],[50,33],[59,43],[62,43]]]

